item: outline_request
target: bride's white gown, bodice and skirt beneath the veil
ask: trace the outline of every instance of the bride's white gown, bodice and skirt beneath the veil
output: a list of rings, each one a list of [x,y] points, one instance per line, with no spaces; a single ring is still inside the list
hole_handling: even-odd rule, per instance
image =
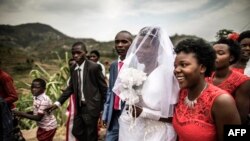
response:
[[[145,81],[142,88],[142,96],[140,97],[141,107],[146,107],[150,113],[160,115],[162,98],[160,97],[161,89],[164,89],[165,84],[157,82],[164,79],[160,74],[164,69],[158,67],[155,69]],[[122,115],[119,118],[119,141],[175,141],[176,133],[172,124],[164,123],[148,118],[130,117],[128,110],[124,108]]]

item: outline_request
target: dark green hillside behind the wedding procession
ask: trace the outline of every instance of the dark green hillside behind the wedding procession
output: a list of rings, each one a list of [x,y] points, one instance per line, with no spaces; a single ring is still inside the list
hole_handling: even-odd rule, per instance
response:
[[[187,37],[195,36],[176,34],[171,40],[175,45]],[[88,51],[99,50],[102,58],[116,58],[113,41],[98,42],[91,38],[72,38],[42,23],[0,25],[0,67],[10,72],[30,70],[33,62],[46,63],[57,58],[54,52],[64,57],[64,53],[70,52],[71,45],[76,41],[86,43]]]

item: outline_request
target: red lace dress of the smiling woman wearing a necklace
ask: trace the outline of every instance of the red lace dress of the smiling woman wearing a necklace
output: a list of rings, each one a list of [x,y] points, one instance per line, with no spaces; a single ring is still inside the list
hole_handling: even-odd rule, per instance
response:
[[[216,127],[211,110],[216,97],[225,93],[227,92],[209,84],[197,98],[194,108],[189,108],[184,103],[188,90],[181,90],[173,117],[179,141],[216,141]]]

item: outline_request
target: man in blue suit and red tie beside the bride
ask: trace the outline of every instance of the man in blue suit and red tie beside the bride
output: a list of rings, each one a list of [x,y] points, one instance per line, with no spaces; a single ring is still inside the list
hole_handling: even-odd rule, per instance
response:
[[[106,141],[118,141],[119,123],[118,118],[124,107],[124,102],[112,91],[118,72],[123,65],[127,51],[133,41],[133,36],[128,31],[120,31],[115,36],[115,50],[119,55],[118,60],[112,62],[109,74],[109,88],[107,99],[104,104],[102,119],[107,125]]]

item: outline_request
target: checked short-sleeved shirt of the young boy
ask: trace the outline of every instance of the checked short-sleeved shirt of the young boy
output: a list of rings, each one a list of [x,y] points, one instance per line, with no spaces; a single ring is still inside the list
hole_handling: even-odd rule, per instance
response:
[[[55,116],[52,113],[47,114],[44,111],[50,105],[52,105],[52,102],[50,98],[47,95],[45,95],[45,93],[37,97],[34,97],[33,114],[34,115],[44,114],[42,120],[37,122],[37,126],[45,129],[46,131],[55,129],[57,127]]]

